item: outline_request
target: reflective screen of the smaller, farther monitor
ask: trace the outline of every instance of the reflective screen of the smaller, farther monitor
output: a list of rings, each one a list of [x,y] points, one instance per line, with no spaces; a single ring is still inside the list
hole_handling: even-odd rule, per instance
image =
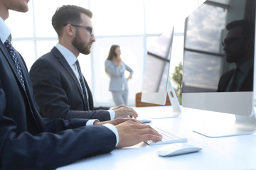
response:
[[[143,92],[166,92],[173,34],[174,29],[172,28],[170,33],[161,35],[149,44],[144,72]]]

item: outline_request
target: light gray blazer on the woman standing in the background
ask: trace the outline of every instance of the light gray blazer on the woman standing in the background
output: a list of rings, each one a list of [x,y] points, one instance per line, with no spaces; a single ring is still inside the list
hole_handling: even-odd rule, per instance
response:
[[[124,62],[121,62],[121,67],[117,67],[112,60],[105,61],[105,69],[110,76],[110,91],[128,90],[127,78],[124,77],[124,71],[129,72],[129,77],[132,78],[133,70]]]

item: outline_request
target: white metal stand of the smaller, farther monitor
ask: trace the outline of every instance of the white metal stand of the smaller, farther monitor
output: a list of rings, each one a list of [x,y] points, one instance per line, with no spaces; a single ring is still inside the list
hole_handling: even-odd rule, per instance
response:
[[[179,115],[181,115],[181,105],[178,103],[178,98],[176,96],[176,92],[174,91],[174,87],[171,84],[170,79],[168,79],[168,87],[167,87],[167,94],[169,96],[170,102],[171,102],[171,112],[167,113],[154,113],[151,115],[148,115],[147,117],[152,118],[152,119],[157,119],[157,118],[176,118]]]

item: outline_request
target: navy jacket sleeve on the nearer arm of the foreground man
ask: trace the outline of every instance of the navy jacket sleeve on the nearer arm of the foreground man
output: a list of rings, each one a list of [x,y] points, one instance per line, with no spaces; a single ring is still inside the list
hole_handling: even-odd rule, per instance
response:
[[[83,157],[111,152],[115,147],[115,135],[105,126],[84,126],[70,130],[60,128],[75,127],[80,125],[80,120],[72,120],[73,123],[50,120],[46,127],[52,132],[36,135],[27,131],[18,133],[16,121],[5,116],[9,108],[2,89],[0,101],[0,169],[55,169]]]

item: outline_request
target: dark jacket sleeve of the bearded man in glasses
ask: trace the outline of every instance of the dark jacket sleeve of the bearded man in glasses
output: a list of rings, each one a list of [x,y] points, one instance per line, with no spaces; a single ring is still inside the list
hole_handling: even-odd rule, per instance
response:
[[[68,75],[60,72],[56,68],[56,63],[38,59],[31,67],[30,74],[33,93],[43,117],[110,120],[110,114],[106,110],[84,111],[82,109],[83,101],[79,99],[80,94],[73,92],[77,88],[73,79],[70,80]]]

